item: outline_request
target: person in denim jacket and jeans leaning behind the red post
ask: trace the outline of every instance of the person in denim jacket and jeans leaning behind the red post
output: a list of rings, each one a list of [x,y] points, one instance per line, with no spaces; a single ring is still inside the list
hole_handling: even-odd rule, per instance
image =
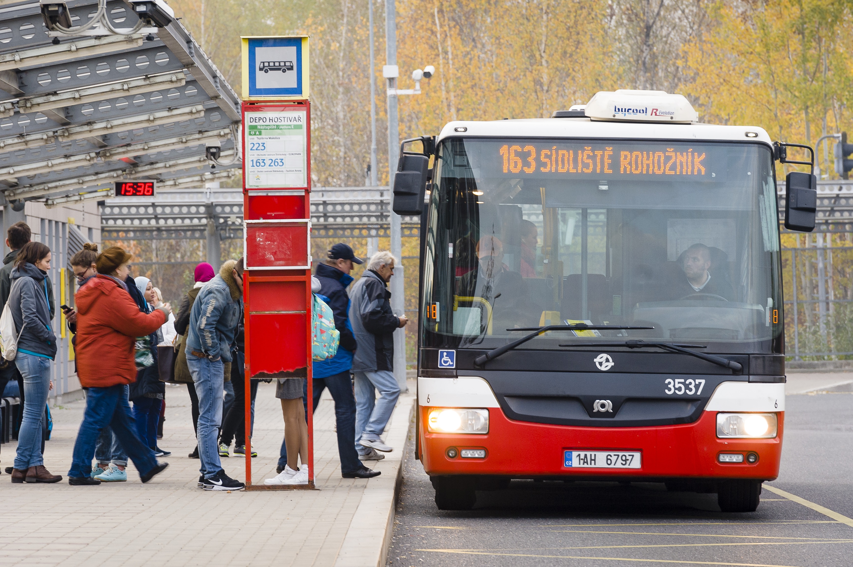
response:
[[[222,424],[223,362],[231,362],[230,345],[243,315],[242,293],[243,258],[229,260],[201,288],[189,315],[187,366],[199,396],[199,488],[206,490],[243,489],[243,483],[223,471],[217,446]]]

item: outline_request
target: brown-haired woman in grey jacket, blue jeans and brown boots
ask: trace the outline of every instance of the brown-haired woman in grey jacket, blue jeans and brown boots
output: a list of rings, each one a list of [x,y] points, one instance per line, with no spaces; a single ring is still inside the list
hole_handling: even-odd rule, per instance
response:
[[[50,249],[29,242],[20,249],[12,269],[9,310],[15,320],[18,354],[15,366],[24,377],[24,414],[18,433],[13,483],[58,483],[59,475],[44,468],[42,419],[50,388],[50,361],[56,356],[56,337],[50,328],[47,270]]]

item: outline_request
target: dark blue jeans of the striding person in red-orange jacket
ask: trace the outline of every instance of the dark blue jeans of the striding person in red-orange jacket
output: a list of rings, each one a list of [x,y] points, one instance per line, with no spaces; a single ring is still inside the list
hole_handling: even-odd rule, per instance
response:
[[[69,477],[88,477],[91,474],[95,443],[107,425],[118,437],[121,448],[131,457],[140,477],[157,466],[154,451],[146,447],[136,433],[131,404],[127,401],[127,386],[119,384],[90,388],[87,392],[86,410],[74,442]]]

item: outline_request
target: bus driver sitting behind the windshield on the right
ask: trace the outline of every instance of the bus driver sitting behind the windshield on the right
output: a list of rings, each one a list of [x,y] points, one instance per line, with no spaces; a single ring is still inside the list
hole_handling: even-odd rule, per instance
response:
[[[725,252],[719,249],[717,252],[725,256]],[[712,269],[711,248],[700,243],[693,244],[682,252],[679,263],[683,274],[673,283],[670,291],[673,299],[723,298],[734,301],[734,289],[728,281],[727,270],[723,268],[726,262],[720,257],[717,269]]]

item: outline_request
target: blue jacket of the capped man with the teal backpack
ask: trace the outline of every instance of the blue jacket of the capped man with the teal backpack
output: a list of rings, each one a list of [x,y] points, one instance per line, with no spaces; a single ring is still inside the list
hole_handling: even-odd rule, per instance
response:
[[[340,333],[338,354],[328,360],[313,363],[314,378],[328,378],[352,367],[356,339],[352,335],[350,325],[350,296],[346,293],[346,286],[352,283],[352,276],[326,263],[318,264],[314,275],[322,285],[317,297],[332,309],[334,327]]]

